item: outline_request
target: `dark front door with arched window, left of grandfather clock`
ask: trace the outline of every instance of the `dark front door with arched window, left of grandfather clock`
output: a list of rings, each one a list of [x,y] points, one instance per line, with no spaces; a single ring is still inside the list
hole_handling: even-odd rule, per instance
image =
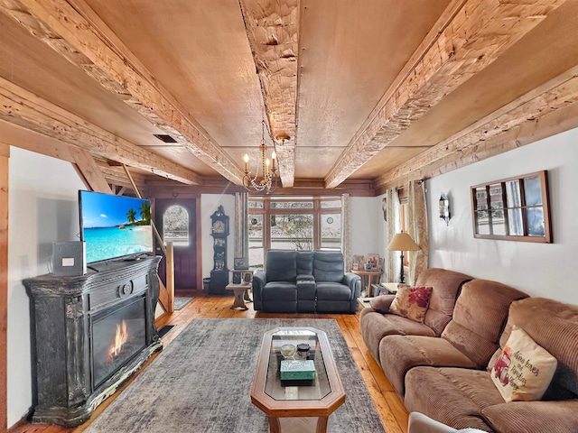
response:
[[[197,289],[197,200],[194,198],[156,198],[154,224],[164,243],[174,245],[174,289]],[[157,253],[162,254],[160,248]],[[159,265],[159,276],[166,284],[166,261]]]

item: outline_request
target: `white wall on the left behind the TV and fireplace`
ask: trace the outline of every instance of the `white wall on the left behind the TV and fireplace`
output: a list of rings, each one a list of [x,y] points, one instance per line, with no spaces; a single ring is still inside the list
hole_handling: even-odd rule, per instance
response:
[[[8,427],[32,406],[30,312],[24,278],[47,273],[52,242],[79,240],[78,190],[70,162],[11,147],[8,230]]]

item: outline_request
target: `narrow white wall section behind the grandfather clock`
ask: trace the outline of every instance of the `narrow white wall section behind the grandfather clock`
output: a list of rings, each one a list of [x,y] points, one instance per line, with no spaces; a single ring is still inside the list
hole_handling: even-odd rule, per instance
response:
[[[201,194],[200,195],[200,242],[202,251],[202,277],[209,278],[213,269],[213,238],[210,235],[210,216],[217,208],[223,207],[228,216],[227,266],[233,269],[235,254],[235,195],[234,194]]]

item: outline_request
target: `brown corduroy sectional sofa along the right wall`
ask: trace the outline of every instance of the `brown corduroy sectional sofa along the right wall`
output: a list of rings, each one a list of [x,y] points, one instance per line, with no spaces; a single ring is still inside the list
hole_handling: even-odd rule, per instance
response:
[[[435,273],[439,280],[446,272],[428,270],[419,285],[426,285],[430,274]],[[454,274],[448,275],[454,278]],[[362,310],[362,336],[372,355],[371,347],[378,345],[378,356],[373,356],[406,409],[452,428],[502,433],[578,432],[578,306],[528,298],[496,281],[466,281],[456,295],[452,319],[439,336],[392,332],[377,343],[374,338],[380,333],[368,329],[368,320],[378,323],[375,315],[381,313]],[[381,310],[390,302],[376,299],[373,304]],[[404,318],[393,320],[397,323],[399,319]],[[490,379],[489,370],[513,326],[524,329],[558,361],[555,377],[541,401],[504,402]]]

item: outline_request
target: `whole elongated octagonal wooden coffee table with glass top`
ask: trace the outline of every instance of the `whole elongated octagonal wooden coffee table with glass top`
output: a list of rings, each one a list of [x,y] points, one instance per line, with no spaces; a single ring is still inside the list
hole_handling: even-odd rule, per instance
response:
[[[284,356],[281,347],[303,344],[310,346],[307,359],[312,363],[307,364],[314,365],[313,379],[282,381],[280,367]],[[295,354],[294,359],[305,358]],[[314,421],[313,431],[325,432],[329,416],[345,401],[327,335],[314,327],[277,327],[267,331],[256,364],[251,401],[266,413],[271,433],[281,432],[282,425],[285,431],[292,424],[303,431],[305,424]]]

